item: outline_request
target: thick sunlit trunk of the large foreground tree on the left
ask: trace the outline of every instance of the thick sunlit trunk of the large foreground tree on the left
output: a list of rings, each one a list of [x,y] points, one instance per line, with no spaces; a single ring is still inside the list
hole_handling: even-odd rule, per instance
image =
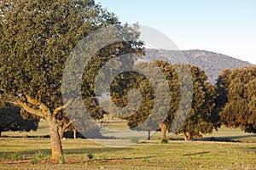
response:
[[[51,144],[51,159],[59,160],[62,153],[61,138],[58,132],[58,123],[55,118],[49,117],[47,120],[49,123],[49,139]]]

